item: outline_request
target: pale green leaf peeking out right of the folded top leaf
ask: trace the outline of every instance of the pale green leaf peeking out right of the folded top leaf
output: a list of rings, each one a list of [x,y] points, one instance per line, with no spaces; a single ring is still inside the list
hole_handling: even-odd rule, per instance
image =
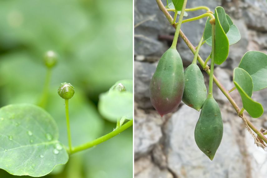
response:
[[[241,38],[238,28],[234,25],[233,21],[229,17],[229,15],[226,14],[227,21],[230,25],[229,31],[226,33],[226,36],[229,40],[229,45],[235,44],[238,42]]]

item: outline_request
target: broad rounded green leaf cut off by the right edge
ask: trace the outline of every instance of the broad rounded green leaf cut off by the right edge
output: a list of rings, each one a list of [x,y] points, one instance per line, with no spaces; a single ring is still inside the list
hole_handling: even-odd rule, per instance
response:
[[[267,87],[267,55],[259,51],[246,52],[239,67],[248,72],[253,81],[253,91]]]

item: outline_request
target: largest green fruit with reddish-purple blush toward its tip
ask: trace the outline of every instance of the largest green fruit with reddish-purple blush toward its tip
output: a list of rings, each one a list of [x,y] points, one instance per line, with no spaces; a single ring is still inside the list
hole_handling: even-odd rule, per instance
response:
[[[158,62],[150,81],[150,100],[161,116],[173,111],[184,91],[183,64],[177,49],[168,49]]]

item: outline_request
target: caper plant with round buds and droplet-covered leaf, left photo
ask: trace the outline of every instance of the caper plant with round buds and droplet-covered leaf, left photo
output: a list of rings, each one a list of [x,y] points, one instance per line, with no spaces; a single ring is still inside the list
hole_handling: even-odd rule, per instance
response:
[[[75,118],[69,116],[69,101],[71,103],[71,98],[75,96],[75,88],[64,82],[57,90],[65,101],[66,111],[68,146],[62,144],[54,118],[44,109],[48,103],[51,70],[56,63],[56,53],[46,52],[44,64],[47,73],[39,106],[25,103],[0,108],[0,168],[12,175],[45,176],[55,166],[66,164],[70,155],[95,147],[133,125],[133,81],[121,80],[102,93],[98,103],[100,114],[109,121],[117,122],[114,130],[73,146],[70,119]]]

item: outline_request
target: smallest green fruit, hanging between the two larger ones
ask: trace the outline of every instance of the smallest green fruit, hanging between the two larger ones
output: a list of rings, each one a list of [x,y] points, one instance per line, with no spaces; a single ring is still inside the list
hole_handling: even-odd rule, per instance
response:
[[[206,100],[207,88],[197,64],[191,64],[186,68],[184,78],[185,85],[182,101],[187,106],[200,111]]]

